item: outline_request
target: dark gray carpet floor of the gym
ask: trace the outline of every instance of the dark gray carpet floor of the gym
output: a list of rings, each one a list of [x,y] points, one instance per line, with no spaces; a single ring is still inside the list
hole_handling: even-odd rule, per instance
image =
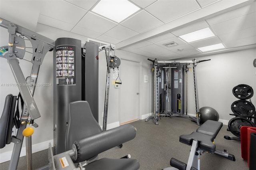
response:
[[[153,120],[144,120],[130,123],[137,129],[136,137],[123,144],[122,148],[112,148],[101,154],[100,158],[121,158],[131,154],[132,158],[140,162],[140,170],[161,170],[170,166],[170,158],[174,157],[187,163],[191,146],[179,142],[181,134],[190,134],[198,126],[189,119],[179,117],[162,117],[159,125]],[[222,156],[204,153],[200,156],[201,170],[249,170],[247,161],[241,158],[240,142],[226,140],[224,135],[234,136],[223,125],[215,141],[217,150],[226,149],[230,154],[236,156],[236,161],[228,160]],[[48,164],[48,150],[33,154],[33,169]],[[0,170],[8,169],[10,162],[0,164]],[[26,169],[26,158],[20,158],[18,170]]]

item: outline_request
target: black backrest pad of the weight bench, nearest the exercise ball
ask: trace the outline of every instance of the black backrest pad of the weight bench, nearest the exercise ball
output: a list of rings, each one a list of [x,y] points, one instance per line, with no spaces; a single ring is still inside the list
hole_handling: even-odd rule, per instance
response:
[[[222,128],[222,123],[218,121],[207,120],[203,123],[196,132],[207,134],[216,138],[218,132]]]

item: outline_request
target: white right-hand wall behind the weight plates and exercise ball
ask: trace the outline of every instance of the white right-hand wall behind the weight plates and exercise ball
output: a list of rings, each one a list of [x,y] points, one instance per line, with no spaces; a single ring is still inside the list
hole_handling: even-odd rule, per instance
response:
[[[198,63],[198,95],[199,107],[212,107],[218,111],[220,121],[227,125],[234,116],[231,104],[238,100],[232,93],[233,87],[239,84],[250,85],[256,92],[256,68],[253,66],[256,49],[245,49],[205,57],[196,57]],[[189,67],[192,67],[190,65]],[[256,106],[256,95],[252,97]],[[188,73],[188,113],[195,114],[193,72]]]

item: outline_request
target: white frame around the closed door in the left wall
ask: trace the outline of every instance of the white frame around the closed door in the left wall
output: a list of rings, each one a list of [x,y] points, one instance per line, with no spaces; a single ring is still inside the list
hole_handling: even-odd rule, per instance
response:
[[[140,113],[140,77],[141,77],[141,65],[142,63],[140,61],[134,61],[134,60],[130,60],[130,59],[124,59],[124,58],[121,58],[120,57],[120,60],[121,60],[121,64],[122,64],[122,60],[125,60],[125,61],[132,61],[132,62],[135,62],[135,63],[138,63],[138,119],[137,120],[140,120],[140,117],[141,117],[141,113]],[[122,67],[122,66],[121,66]],[[122,76],[122,75],[121,75]],[[122,78],[122,77],[121,77]],[[122,85],[121,85],[122,86]],[[126,123],[129,123],[129,122],[133,122],[133,121],[136,121],[136,119],[134,120],[131,120],[131,121],[128,121],[128,122],[125,122],[125,123],[122,123],[121,124],[121,88],[119,88],[119,125],[124,125]]]

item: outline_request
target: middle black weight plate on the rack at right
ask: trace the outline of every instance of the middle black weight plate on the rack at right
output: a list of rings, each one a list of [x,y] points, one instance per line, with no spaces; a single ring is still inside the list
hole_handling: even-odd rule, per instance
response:
[[[254,105],[246,100],[234,101],[231,110],[236,116],[251,117],[255,113]]]

